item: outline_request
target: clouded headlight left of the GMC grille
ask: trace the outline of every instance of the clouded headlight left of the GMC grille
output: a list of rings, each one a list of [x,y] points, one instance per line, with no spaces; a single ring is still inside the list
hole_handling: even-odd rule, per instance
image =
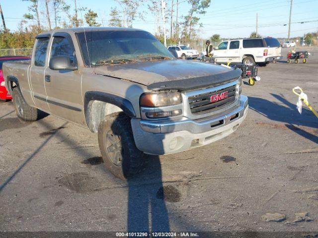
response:
[[[166,107],[181,103],[181,94],[178,92],[144,93],[140,97],[141,107]]]

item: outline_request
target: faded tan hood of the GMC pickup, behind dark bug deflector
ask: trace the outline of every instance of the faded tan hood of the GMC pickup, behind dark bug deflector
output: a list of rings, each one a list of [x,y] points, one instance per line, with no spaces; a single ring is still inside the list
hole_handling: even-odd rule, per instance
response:
[[[105,65],[95,68],[96,74],[130,80],[146,86],[188,78],[222,74],[232,69],[190,60],[156,60]]]

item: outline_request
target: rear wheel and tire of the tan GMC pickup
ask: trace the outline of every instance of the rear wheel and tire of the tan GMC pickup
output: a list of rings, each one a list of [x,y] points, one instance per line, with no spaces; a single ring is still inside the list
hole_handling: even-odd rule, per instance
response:
[[[19,119],[35,121],[39,118],[41,111],[27,105],[18,87],[13,88],[12,101],[15,113]]]

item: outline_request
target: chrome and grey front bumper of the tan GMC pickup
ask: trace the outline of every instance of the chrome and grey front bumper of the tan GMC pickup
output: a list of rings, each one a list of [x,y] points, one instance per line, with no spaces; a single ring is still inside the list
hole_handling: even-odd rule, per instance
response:
[[[178,121],[131,119],[131,124],[139,150],[163,155],[207,145],[230,135],[245,119],[247,110],[248,99],[241,95],[239,106],[222,116]],[[235,118],[230,120],[233,115]]]

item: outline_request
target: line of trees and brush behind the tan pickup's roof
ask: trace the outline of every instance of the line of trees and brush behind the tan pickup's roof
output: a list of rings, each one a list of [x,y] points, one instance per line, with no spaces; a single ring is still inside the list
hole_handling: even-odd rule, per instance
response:
[[[52,29],[82,26],[134,27],[134,21],[143,21],[146,14],[154,18],[155,36],[163,39],[163,15],[169,24],[167,42],[197,40],[202,27],[200,16],[206,13],[211,0],[113,0],[108,21],[97,20],[98,14],[79,5],[77,0],[21,0],[29,3],[28,11],[18,23],[18,29],[6,29],[4,19],[0,30],[0,48],[31,48],[34,37]],[[179,13],[180,3],[187,3],[186,14]],[[142,10],[142,6],[144,10]],[[164,7],[162,11],[162,7]],[[146,10],[145,10],[146,9]],[[183,8],[184,9],[184,8]]]

